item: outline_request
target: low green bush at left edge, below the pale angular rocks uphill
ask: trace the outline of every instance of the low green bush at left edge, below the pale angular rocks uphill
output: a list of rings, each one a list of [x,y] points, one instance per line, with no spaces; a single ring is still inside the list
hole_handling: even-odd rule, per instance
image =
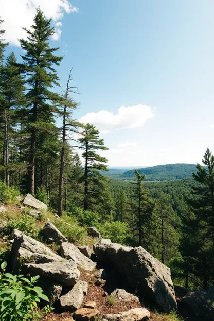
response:
[[[35,224],[36,220],[27,214],[22,217],[8,221],[6,227],[3,229],[3,235],[10,235],[14,228],[19,229],[24,234],[36,238],[39,234],[39,228]]]

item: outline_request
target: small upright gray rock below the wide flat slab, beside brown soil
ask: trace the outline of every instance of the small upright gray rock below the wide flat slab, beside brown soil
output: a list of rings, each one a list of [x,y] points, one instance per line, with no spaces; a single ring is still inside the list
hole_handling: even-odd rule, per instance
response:
[[[60,297],[60,306],[64,310],[76,311],[82,305],[84,293],[82,283],[77,282],[67,294]]]

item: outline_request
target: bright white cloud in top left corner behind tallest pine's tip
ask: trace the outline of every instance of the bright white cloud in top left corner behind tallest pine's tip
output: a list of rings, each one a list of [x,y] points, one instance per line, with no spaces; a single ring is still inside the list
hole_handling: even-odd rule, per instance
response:
[[[20,38],[25,38],[26,33],[22,27],[29,28],[35,14],[35,8],[40,7],[47,18],[53,19],[57,27],[53,40],[59,40],[62,33],[60,27],[65,13],[77,13],[68,0],[7,0],[0,1],[1,17],[4,20],[2,27],[6,30],[5,39],[11,45],[19,46]]]

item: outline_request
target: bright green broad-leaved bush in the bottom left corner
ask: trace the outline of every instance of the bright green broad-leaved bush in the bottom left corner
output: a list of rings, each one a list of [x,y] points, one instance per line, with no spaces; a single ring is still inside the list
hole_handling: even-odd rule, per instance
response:
[[[0,273],[0,319],[1,321],[34,320],[40,299],[49,301],[40,287],[34,286],[39,276],[30,280],[23,275],[5,273],[6,262],[1,264]]]

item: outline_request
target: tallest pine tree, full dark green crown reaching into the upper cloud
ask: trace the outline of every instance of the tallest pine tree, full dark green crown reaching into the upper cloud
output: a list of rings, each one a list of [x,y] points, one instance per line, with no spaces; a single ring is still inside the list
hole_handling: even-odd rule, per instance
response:
[[[22,55],[24,61],[20,64],[28,86],[26,99],[28,103],[28,127],[31,134],[29,157],[29,193],[34,194],[35,154],[37,151],[38,132],[51,133],[53,112],[56,112],[56,102],[62,98],[51,91],[54,85],[59,85],[58,76],[53,65],[60,65],[63,57],[54,53],[59,48],[50,48],[49,38],[55,33],[51,28],[51,19],[46,19],[44,13],[37,9],[34,24],[31,29],[23,28],[27,40],[20,39],[21,48],[26,51]]]

